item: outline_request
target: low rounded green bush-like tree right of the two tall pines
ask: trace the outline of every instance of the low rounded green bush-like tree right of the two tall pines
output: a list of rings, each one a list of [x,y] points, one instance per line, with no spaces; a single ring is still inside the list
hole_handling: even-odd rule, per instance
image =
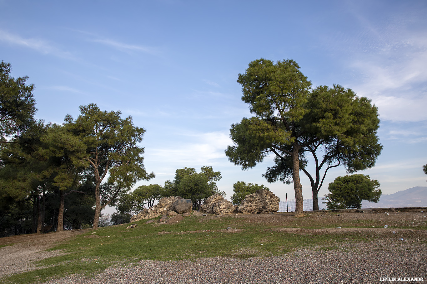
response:
[[[345,175],[329,184],[330,194],[326,195],[327,209],[333,207],[360,208],[362,200],[378,202],[381,196],[380,183],[369,175]]]

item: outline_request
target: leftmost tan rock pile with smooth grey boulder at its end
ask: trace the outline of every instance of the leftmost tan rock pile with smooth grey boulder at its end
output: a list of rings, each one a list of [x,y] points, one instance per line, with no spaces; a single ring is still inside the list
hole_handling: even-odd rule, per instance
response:
[[[162,215],[174,216],[179,213],[190,212],[192,208],[193,203],[190,199],[182,199],[179,196],[161,198],[157,205],[150,209],[144,208],[139,214],[133,215],[131,222],[151,219]]]

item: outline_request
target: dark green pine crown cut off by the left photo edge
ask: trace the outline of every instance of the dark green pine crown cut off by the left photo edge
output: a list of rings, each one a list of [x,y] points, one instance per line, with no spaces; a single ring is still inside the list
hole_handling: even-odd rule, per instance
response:
[[[15,138],[35,122],[33,84],[26,85],[27,76],[14,78],[10,75],[10,63],[0,63],[0,143]]]

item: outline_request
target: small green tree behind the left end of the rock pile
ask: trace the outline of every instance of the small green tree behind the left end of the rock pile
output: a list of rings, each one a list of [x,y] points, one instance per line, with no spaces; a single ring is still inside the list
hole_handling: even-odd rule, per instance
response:
[[[145,207],[150,208],[164,194],[165,189],[158,184],[138,186],[131,193],[120,197],[117,209],[119,212],[140,212]]]

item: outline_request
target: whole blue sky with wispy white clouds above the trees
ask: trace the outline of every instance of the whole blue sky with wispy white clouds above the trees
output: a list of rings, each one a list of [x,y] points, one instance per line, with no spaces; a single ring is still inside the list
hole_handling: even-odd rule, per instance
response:
[[[383,194],[426,186],[427,2],[0,0],[0,60],[36,86],[37,118],[62,123],[79,105],[131,115],[146,135],[145,166],[164,184],[175,170],[213,166],[237,181],[293,187],[242,171],[224,149],[249,117],[237,75],[258,58],[298,62],[313,87],[339,83],[379,108],[384,149],[365,174]],[[319,196],[345,169],[328,173]],[[301,172],[304,198],[311,198]]]

